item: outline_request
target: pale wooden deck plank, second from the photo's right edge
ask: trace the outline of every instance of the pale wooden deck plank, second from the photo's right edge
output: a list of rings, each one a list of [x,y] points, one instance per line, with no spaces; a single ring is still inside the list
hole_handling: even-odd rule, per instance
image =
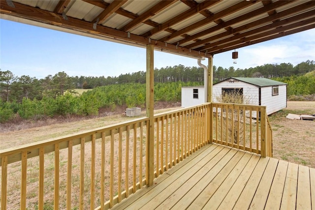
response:
[[[312,209],[310,168],[302,165],[299,165],[298,172],[296,209],[297,210]]]

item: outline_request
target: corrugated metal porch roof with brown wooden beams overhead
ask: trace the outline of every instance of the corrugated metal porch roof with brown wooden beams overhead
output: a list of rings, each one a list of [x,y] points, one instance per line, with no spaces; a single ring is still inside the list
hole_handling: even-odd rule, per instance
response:
[[[1,1],[0,13],[194,58],[315,28],[314,0],[12,0]]]

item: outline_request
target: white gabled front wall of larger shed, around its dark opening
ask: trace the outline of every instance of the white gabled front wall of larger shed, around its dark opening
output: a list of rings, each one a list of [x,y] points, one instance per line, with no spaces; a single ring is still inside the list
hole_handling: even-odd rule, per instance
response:
[[[243,88],[243,100],[245,104],[259,105],[259,88],[248,83],[224,81],[213,85],[213,102],[221,102],[222,88]]]

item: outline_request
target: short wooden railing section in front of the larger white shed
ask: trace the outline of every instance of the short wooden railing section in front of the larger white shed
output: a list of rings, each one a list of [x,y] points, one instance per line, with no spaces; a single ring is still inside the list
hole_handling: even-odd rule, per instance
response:
[[[272,129],[265,106],[211,103],[213,142],[272,157]]]

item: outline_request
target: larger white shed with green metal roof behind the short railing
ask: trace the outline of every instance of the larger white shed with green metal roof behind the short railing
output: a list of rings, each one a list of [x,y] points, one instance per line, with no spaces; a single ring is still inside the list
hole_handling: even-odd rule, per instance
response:
[[[243,103],[267,107],[267,115],[286,108],[286,83],[267,78],[231,77],[213,85],[213,101],[222,102],[222,92],[238,92]]]

